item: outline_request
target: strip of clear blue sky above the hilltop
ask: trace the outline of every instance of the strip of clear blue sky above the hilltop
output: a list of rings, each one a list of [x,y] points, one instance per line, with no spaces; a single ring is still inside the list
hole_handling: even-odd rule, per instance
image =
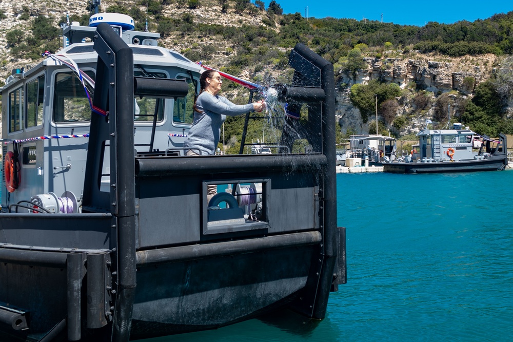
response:
[[[266,6],[270,0],[264,0]],[[513,11],[512,0],[446,0],[446,1],[377,1],[377,0],[275,0],[284,13],[300,12],[306,17],[352,18],[381,21],[400,25],[424,26],[428,22],[452,24],[467,20],[486,19],[496,13]]]

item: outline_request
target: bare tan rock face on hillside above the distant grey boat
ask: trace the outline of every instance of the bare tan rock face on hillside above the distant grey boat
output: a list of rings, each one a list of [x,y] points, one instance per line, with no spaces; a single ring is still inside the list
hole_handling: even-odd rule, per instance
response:
[[[396,83],[404,94],[399,100],[401,106],[397,115],[406,116],[411,113],[413,106],[411,98],[416,90],[423,89],[432,93],[433,100],[440,94],[449,91],[458,91],[463,96],[471,96],[473,89],[479,83],[486,81],[494,71],[494,66],[500,62],[494,54],[479,56],[463,56],[448,58],[436,54],[421,54],[412,51],[407,55],[395,58],[364,58],[367,68],[360,69],[356,74],[339,73],[337,118],[343,131],[351,129],[354,132],[366,134],[369,123],[375,125],[375,119],[369,122],[362,121],[360,111],[349,100],[350,87],[354,84],[366,84],[373,79]],[[473,87],[463,81],[465,78],[473,79]],[[434,105],[434,101],[432,102]],[[416,117],[409,118],[409,122],[399,133],[407,135],[417,133],[426,119],[432,119],[433,107]]]

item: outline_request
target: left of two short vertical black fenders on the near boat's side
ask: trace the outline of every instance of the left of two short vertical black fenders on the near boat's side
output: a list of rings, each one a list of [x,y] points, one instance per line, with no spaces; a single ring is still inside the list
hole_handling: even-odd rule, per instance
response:
[[[66,257],[68,278],[68,340],[81,339],[82,281],[84,279],[85,253],[69,253]]]

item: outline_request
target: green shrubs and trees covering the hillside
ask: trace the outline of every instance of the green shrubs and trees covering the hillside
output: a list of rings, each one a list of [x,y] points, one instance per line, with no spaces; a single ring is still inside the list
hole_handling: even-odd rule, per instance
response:
[[[170,7],[183,11],[171,17],[166,14],[169,13],[166,9]],[[181,52],[193,61],[202,60],[207,64],[220,54],[227,56],[228,62],[222,69],[231,74],[249,70],[251,75],[261,75],[262,70],[283,70],[288,61],[287,51],[297,43],[307,45],[333,63],[336,74],[347,74],[353,79],[358,70],[367,67],[364,56],[383,59],[408,55],[414,50],[448,56],[513,54],[513,11],[475,22],[430,22],[423,27],[331,17],[310,17],[307,20],[301,13],[283,14],[275,0],[271,0],[267,8],[261,0],[256,0],[254,4],[249,0],[137,0],[134,6],[126,7],[120,2],[100,11],[128,14],[134,18],[136,30],[144,30],[147,14],[141,9],[146,8],[150,31],[159,32],[163,37],[176,37],[171,43],[176,46],[179,45],[178,41],[192,41]],[[238,20],[239,27],[223,26],[219,22],[200,22],[193,12],[187,11],[196,8],[209,11],[216,8],[215,11],[221,13],[249,15],[259,19],[255,23],[262,24],[245,22],[242,16]],[[24,9],[19,19],[30,20],[29,9]],[[88,17],[71,16],[70,21],[87,25]],[[60,22],[65,20],[64,17],[60,18]],[[52,17],[37,16],[31,23],[32,33],[19,29],[7,32],[6,39],[13,58],[36,60],[45,50],[57,50],[61,45],[60,29],[53,22]],[[386,63],[385,59],[383,63]],[[500,131],[512,134],[513,123],[505,112],[506,104],[513,95],[512,69],[513,60],[506,59],[503,67],[488,82],[476,86],[473,77],[466,77],[461,87],[463,93],[434,94],[435,99],[432,93],[422,89],[411,90],[413,95],[410,93],[409,100],[413,106],[412,113],[424,113],[434,104],[435,119],[443,124],[450,107],[452,118],[458,118],[478,132],[490,136],[497,136]],[[226,84],[225,90],[230,87],[236,86]],[[393,127],[399,131],[411,119],[396,115],[400,107],[398,99],[405,97],[404,93],[396,84],[370,81],[367,85],[353,86],[350,100],[359,108],[363,122],[367,122],[376,111],[377,96],[381,121],[379,127],[382,127],[378,129],[381,132],[382,129]],[[467,98],[468,94],[475,96],[470,99]],[[233,124],[240,124],[236,121],[240,119],[233,120]],[[375,122],[369,125],[372,126],[375,130]],[[240,136],[239,131],[232,132],[230,128],[227,131],[229,138],[231,135]],[[259,136],[257,132],[250,132],[249,139],[253,138],[252,135]]]

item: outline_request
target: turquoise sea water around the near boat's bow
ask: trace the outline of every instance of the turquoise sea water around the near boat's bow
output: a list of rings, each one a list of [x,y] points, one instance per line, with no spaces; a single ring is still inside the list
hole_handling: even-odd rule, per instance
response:
[[[339,174],[337,188],[348,282],[323,321],[145,341],[513,341],[513,171]]]

